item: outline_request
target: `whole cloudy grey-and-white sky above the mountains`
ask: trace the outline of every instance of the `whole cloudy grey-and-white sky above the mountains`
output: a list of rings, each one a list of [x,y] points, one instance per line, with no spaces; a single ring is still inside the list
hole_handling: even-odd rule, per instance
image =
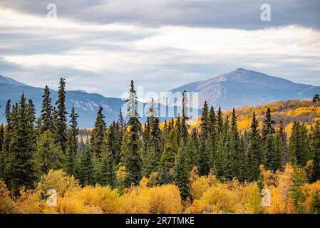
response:
[[[320,1],[0,1],[0,74],[31,86],[120,97],[239,67],[320,86]]]

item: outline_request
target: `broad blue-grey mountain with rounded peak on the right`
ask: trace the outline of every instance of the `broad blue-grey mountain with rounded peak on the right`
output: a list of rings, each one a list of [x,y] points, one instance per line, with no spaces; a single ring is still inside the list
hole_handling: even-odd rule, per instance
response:
[[[277,100],[310,99],[316,93],[320,93],[320,86],[310,86],[283,78],[268,76],[257,71],[249,71],[243,68],[225,73],[205,81],[187,83],[178,88],[169,90],[160,103],[167,105],[180,105],[181,98],[174,102],[175,93],[197,92],[198,103],[193,107],[202,108],[207,100],[209,105],[219,106],[227,110],[229,108],[241,107],[244,105],[259,105],[271,103]],[[190,100],[192,100],[192,95]]]

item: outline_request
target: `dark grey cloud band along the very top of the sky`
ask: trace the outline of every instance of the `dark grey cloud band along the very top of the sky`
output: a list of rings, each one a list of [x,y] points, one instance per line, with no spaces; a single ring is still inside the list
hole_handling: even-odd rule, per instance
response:
[[[45,17],[46,6],[49,3],[57,5],[58,17],[96,24],[121,22],[148,26],[180,25],[241,29],[299,24],[320,28],[318,0],[2,0],[0,6]],[[264,3],[271,6],[272,21],[260,20],[260,6]]]

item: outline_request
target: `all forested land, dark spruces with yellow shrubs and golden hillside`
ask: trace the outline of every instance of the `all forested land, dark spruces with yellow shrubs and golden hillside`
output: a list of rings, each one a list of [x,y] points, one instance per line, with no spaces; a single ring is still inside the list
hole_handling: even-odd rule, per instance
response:
[[[185,94],[181,116],[160,126],[151,102],[142,124],[131,81],[128,115],[107,126],[100,107],[86,142],[78,141],[75,108],[66,110],[63,78],[54,105],[44,88],[38,118],[24,94],[8,100],[0,212],[320,212],[319,95],[223,113],[205,102],[190,124]],[[46,203],[51,189],[54,206]]]

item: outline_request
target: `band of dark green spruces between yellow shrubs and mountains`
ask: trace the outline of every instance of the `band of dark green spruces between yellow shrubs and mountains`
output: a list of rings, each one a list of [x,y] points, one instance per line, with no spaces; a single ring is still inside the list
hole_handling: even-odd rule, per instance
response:
[[[0,128],[0,178],[16,194],[21,187],[33,188],[42,174],[58,169],[76,177],[82,186],[99,184],[120,190],[138,185],[145,176],[154,185],[175,184],[182,199],[192,196],[190,171],[194,167],[200,176],[211,173],[221,182],[261,182],[260,165],[283,171],[287,162],[305,167],[310,161],[309,182],[320,179],[319,122],[311,130],[304,123],[294,123],[288,138],[284,125],[280,122],[276,128],[267,108],[262,130],[252,113],[251,128],[240,133],[235,110],[223,118],[221,109],[215,112],[205,102],[200,128],[190,128],[183,93],[181,116],[160,128],[151,100],[147,122],[141,124],[131,81],[126,118],[120,110],[119,120],[107,126],[100,107],[91,137],[83,143],[77,138],[75,108],[67,120],[65,88],[61,78],[55,105],[48,86],[44,88],[39,118],[24,94],[19,103],[6,103],[6,126]]]

